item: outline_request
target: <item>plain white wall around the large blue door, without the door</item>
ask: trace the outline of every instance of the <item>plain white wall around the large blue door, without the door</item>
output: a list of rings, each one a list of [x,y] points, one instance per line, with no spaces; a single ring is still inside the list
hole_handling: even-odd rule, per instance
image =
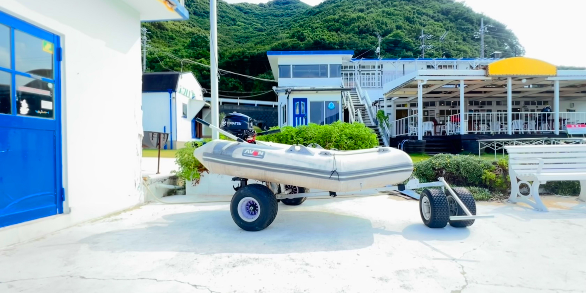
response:
[[[0,229],[0,246],[139,204],[138,12],[111,0],[2,0],[0,9],[62,36],[63,186],[70,207],[70,214]]]

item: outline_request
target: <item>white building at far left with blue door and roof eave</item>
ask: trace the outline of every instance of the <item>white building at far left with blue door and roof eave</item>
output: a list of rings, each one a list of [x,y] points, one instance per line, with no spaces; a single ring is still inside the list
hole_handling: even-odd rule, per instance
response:
[[[0,246],[141,203],[141,21],[179,0],[0,2]]]

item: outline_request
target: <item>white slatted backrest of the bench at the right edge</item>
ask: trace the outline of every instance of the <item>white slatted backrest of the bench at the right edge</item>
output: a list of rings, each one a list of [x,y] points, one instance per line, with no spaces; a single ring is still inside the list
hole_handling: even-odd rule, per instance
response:
[[[510,171],[586,173],[586,145],[512,145],[505,149]]]

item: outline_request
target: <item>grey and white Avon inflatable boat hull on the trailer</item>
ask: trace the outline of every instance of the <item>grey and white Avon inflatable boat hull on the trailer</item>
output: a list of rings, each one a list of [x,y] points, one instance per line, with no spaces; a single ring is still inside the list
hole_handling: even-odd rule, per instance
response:
[[[331,192],[394,185],[413,173],[410,156],[390,147],[337,151],[216,139],[193,155],[212,173]]]

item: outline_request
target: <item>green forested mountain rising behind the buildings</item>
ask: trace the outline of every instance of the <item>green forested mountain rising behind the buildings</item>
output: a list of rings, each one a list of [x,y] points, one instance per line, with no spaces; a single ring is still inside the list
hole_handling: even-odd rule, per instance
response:
[[[209,0],[186,0],[189,21],[144,23],[149,30],[147,66],[151,71],[193,71],[209,88],[209,68],[182,59],[209,64]],[[376,57],[380,36],[381,57],[478,57],[479,29],[484,18],[486,56],[524,53],[505,25],[473,12],[454,0],[327,0],[309,6],[299,0],[266,4],[227,4],[219,1],[218,45],[220,69],[272,79],[268,50],[354,50],[355,56]],[[442,40],[441,36],[447,32]],[[226,96],[268,91],[276,83],[235,74],[220,77]],[[268,93],[255,99],[273,100]]]

